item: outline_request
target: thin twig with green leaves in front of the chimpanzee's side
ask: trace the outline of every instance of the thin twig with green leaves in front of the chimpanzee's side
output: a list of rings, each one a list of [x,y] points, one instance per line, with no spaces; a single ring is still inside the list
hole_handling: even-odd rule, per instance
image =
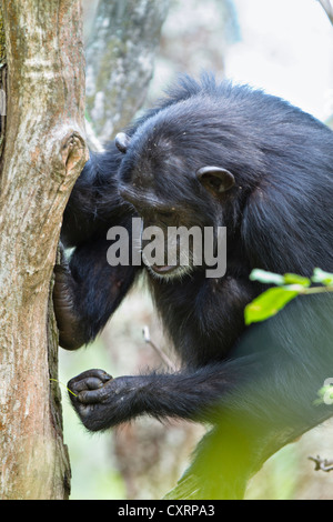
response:
[[[297,295],[333,292],[333,273],[321,269],[313,271],[312,278],[303,278],[294,273],[284,275],[255,269],[250,274],[251,281],[260,281],[266,284],[275,284],[245,308],[245,324],[264,321],[280,312],[290,301]],[[321,284],[312,287],[312,283]]]

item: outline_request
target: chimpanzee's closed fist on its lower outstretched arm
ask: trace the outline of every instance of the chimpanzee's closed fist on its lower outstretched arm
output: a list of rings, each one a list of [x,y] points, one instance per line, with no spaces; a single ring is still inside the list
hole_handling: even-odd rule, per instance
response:
[[[105,430],[140,413],[135,395],[142,381],[141,377],[112,379],[103,370],[88,370],[69,381],[69,396],[88,430]]]

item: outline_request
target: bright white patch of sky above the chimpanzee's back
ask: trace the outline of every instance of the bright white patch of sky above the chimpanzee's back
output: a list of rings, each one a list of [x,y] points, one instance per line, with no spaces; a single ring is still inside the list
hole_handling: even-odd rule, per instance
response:
[[[316,0],[234,0],[242,41],[226,77],[280,96],[316,118],[333,113],[333,27]]]

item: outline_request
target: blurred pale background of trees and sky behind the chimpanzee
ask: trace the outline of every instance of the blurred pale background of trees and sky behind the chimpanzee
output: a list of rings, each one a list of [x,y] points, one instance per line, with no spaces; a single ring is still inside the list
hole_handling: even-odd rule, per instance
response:
[[[323,121],[333,121],[333,28],[319,1],[168,3],[83,0],[92,148],[112,139],[179,72],[214,71],[219,79],[262,88]],[[147,22],[148,13],[153,27]],[[159,355],[144,343],[144,325],[153,342],[174,359],[150,297],[140,285],[92,347],[74,353],[60,351],[60,380],[65,383],[90,368],[102,368],[114,377],[163,368]],[[92,435],[75,418],[65,392],[63,410],[73,500],[163,496],[186,468],[204,431],[183,421],[162,424],[140,419]],[[333,459],[332,440],[333,422],[329,421],[281,450],[252,480],[246,498],[333,499],[333,472],[315,472],[307,460],[317,454]]]

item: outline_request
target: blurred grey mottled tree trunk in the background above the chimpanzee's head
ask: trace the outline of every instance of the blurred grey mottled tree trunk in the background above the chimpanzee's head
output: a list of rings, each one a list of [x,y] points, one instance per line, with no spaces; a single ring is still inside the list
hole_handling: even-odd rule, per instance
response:
[[[103,142],[145,99],[168,7],[169,0],[100,0],[87,46],[87,110]]]

